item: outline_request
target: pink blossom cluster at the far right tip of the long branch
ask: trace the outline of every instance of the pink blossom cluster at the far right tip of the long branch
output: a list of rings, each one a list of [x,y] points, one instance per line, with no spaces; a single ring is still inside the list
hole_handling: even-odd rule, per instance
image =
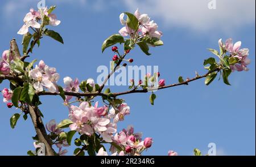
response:
[[[235,65],[230,65],[232,71],[248,71],[247,65],[250,64],[250,59],[247,58],[249,55],[249,49],[243,48],[240,49],[242,42],[238,41],[233,45],[232,38],[226,40],[225,44],[222,42],[222,39],[218,41],[218,44],[221,46],[224,52],[229,52],[229,56],[238,58],[238,62]]]

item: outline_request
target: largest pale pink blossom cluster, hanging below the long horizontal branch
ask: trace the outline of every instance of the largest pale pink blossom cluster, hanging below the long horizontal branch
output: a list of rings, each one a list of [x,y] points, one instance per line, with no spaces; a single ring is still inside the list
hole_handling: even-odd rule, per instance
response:
[[[113,134],[117,132],[117,122],[122,121],[124,116],[129,113],[130,108],[127,104],[119,105],[115,112],[108,112],[108,106],[98,107],[98,102],[92,106],[89,102],[84,101],[79,107],[70,106],[69,118],[73,123],[69,127],[71,130],[88,136],[97,132],[102,135],[105,142],[112,142]]]

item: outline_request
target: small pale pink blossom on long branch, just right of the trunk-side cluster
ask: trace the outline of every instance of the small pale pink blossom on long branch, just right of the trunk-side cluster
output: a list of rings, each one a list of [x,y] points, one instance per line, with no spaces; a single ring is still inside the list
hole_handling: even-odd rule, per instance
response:
[[[67,92],[79,92],[79,80],[76,78],[74,81],[69,76],[66,76],[64,79],[65,88],[64,91]],[[69,101],[72,99],[72,96],[66,96],[66,100]]]

